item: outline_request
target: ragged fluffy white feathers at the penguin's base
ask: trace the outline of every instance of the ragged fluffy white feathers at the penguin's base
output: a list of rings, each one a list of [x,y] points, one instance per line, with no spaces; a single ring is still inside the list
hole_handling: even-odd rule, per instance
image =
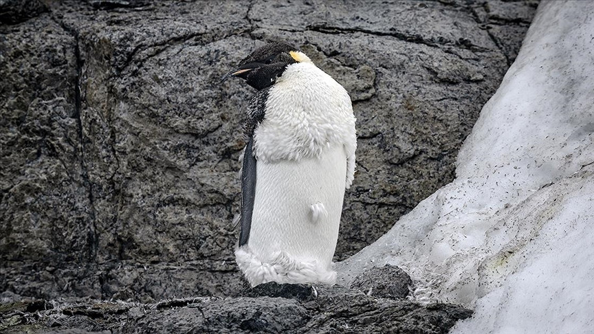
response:
[[[273,260],[265,263],[245,245],[236,249],[235,260],[252,287],[265,282],[325,285],[334,285],[336,282],[336,271],[322,268],[316,260],[295,260],[285,252],[277,252]]]

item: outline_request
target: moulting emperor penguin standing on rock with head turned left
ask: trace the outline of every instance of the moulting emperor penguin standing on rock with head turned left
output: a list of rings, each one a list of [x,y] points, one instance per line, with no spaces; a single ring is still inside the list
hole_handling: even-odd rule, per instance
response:
[[[223,80],[257,91],[243,126],[235,258],[252,287],[333,285],[344,190],[355,173],[355,116],[336,80],[287,43],[269,43]]]

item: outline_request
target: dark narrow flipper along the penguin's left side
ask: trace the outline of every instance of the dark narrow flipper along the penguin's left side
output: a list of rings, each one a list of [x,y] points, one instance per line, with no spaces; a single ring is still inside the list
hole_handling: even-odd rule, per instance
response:
[[[239,232],[239,247],[248,243],[252,227],[252,213],[256,197],[256,157],[254,156],[254,130],[264,120],[268,88],[258,91],[250,100],[248,119],[244,124],[247,144],[243,152],[243,166],[241,167],[241,216]]]

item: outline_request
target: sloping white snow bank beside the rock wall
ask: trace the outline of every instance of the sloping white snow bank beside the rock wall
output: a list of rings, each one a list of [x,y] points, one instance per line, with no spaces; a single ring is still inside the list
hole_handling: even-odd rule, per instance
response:
[[[419,300],[476,308],[455,333],[594,329],[594,2],[542,2],[456,179],[337,265],[405,268]]]

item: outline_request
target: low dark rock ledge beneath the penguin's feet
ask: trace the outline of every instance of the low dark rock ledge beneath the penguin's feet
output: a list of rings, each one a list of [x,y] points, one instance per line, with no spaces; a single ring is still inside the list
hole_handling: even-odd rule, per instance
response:
[[[290,287],[267,283],[254,297],[183,298],[154,304],[46,302],[0,304],[4,333],[448,333],[472,311],[453,304],[421,305],[366,296],[344,287]],[[267,291],[270,288],[272,291]],[[279,289],[309,298],[270,297]],[[315,292],[314,292],[315,291]]]

